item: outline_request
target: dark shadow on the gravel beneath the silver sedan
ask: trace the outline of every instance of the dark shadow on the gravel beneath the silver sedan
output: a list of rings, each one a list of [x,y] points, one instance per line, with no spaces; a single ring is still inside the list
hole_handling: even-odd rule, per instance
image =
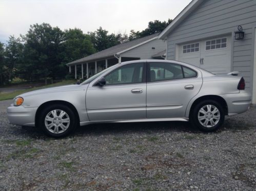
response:
[[[30,138],[45,138],[46,136],[38,128],[23,126],[23,133]],[[80,126],[68,137],[73,136],[99,136],[119,134],[152,134],[152,133],[188,132],[201,133],[192,128],[188,122],[165,121],[165,122],[136,122],[136,123],[99,123]]]

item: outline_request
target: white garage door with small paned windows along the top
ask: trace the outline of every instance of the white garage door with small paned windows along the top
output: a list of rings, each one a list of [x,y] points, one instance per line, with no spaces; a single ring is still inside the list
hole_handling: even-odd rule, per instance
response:
[[[229,73],[231,70],[231,36],[180,45],[176,58],[214,74]]]

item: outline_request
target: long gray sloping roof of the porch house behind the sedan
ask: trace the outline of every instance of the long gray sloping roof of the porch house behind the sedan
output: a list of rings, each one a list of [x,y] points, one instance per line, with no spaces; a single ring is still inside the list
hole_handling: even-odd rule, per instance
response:
[[[145,43],[148,43],[151,40],[157,39],[157,35],[159,35],[159,33],[155,33],[155,34],[145,36],[145,37],[142,37],[139,39],[131,40],[127,43],[123,43],[123,44],[119,44],[119,45],[110,47],[108,49],[97,52],[95,54],[91,54],[87,57],[69,62],[69,63],[67,63],[67,66],[74,65],[76,63],[92,61],[95,59],[110,57],[110,56],[114,56],[115,54],[121,54],[121,53],[131,50],[133,48],[139,47]]]

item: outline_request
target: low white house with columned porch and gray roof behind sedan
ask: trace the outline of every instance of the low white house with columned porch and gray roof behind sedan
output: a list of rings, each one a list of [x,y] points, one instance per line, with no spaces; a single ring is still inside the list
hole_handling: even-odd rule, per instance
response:
[[[139,59],[164,59],[166,43],[152,34],[127,43],[110,47],[90,56],[67,63],[69,72],[74,71],[75,78],[86,78],[118,62]],[[163,53],[162,53],[163,52]]]

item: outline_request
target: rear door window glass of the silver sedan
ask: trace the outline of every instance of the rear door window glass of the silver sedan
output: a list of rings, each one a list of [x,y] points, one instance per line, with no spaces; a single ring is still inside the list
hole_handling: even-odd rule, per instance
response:
[[[151,62],[149,63],[150,82],[183,78],[182,66],[175,63]]]

